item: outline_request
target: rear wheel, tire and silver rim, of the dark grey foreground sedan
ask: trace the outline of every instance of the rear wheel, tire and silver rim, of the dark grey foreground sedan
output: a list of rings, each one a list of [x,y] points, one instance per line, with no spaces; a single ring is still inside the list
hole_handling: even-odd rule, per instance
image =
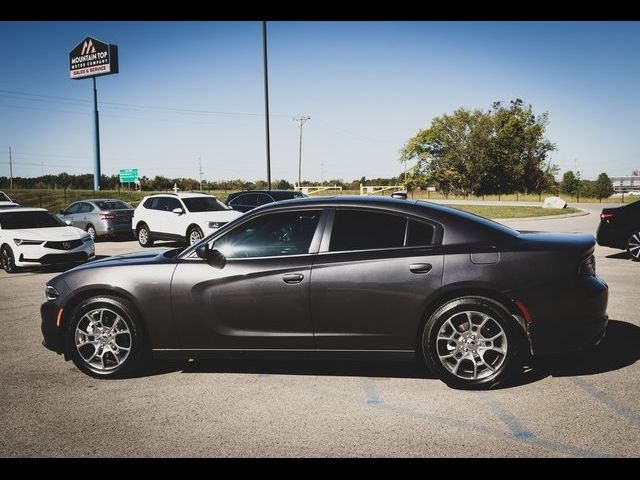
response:
[[[477,323],[482,324],[487,316],[490,320],[482,330],[478,330],[480,325]],[[450,323],[444,326],[448,320]],[[474,325],[474,322],[477,323]],[[466,329],[465,325],[473,325],[475,331]],[[491,388],[504,383],[522,368],[520,350],[523,335],[519,329],[521,327],[509,311],[495,300],[486,297],[456,298],[439,307],[427,320],[420,337],[422,357],[429,370],[450,387]],[[457,340],[438,339],[439,332],[445,337],[457,336]],[[496,334],[500,336],[493,341],[488,340]],[[497,353],[505,347],[505,354]],[[450,358],[441,360],[441,356]]]

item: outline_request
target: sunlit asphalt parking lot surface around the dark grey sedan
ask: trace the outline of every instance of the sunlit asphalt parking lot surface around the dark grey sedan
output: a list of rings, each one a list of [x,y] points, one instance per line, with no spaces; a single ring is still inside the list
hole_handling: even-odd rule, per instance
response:
[[[595,233],[589,215],[504,223]],[[98,255],[138,250],[100,242]],[[41,346],[55,271],[0,271],[0,456],[640,455],[640,264],[596,248],[611,319],[589,355],[493,391],[449,389],[414,364],[200,361],[101,381]]]

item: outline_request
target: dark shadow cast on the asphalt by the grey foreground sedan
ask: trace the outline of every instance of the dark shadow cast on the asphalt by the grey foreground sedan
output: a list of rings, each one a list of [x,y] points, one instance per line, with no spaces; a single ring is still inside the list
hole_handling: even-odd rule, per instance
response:
[[[620,320],[610,320],[607,333],[596,347],[582,352],[553,355],[530,362],[520,375],[498,388],[514,388],[540,381],[548,376],[569,377],[595,375],[619,370],[640,360],[640,327]],[[142,376],[167,373],[237,373],[252,375],[305,375],[375,378],[437,377],[420,362],[364,360],[158,360]]]

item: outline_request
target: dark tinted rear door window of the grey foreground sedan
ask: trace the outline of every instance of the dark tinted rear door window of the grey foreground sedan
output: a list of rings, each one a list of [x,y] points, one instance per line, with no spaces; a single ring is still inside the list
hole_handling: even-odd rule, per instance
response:
[[[387,213],[337,210],[329,250],[372,250],[404,245],[407,219]]]

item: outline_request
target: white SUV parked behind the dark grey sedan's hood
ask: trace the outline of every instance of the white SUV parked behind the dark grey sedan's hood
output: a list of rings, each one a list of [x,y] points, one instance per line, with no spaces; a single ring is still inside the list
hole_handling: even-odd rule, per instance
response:
[[[205,193],[161,193],[142,199],[133,211],[131,228],[143,247],[154,240],[177,240],[189,245],[242,216]]]

